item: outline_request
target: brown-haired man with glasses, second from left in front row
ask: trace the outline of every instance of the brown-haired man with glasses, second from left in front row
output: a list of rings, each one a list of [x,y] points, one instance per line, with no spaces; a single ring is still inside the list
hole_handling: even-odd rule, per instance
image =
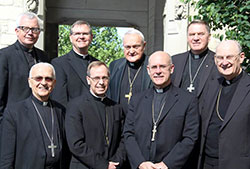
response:
[[[70,101],[66,113],[66,136],[73,154],[70,169],[115,169],[126,158],[122,108],[106,97],[108,67],[100,61],[89,64],[88,94]]]

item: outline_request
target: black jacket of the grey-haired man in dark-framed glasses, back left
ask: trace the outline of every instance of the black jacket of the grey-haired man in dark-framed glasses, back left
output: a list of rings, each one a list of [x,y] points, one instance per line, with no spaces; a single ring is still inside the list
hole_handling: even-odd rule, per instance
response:
[[[29,64],[17,41],[0,50],[0,121],[5,107],[31,95],[28,84]],[[39,62],[48,62],[48,56],[34,47]]]

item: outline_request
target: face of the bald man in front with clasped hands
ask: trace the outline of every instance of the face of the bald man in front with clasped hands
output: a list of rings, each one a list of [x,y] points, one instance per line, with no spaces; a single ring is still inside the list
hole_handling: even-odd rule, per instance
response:
[[[154,86],[164,88],[170,84],[170,74],[174,71],[174,65],[167,53],[158,51],[150,56],[147,70]]]

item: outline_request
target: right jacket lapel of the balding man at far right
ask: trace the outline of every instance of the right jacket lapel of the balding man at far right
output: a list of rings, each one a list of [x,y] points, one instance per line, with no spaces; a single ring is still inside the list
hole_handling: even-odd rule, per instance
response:
[[[224,118],[224,122],[222,123],[222,126],[220,128],[220,131],[223,130],[225,125],[230,121],[232,116],[236,113],[237,109],[245,99],[246,95],[250,91],[250,79],[248,75],[243,72],[243,77],[240,79],[240,82],[237,86],[237,89],[234,92],[234,96],[230,102],[230,105],[227,109],[226,116]]]

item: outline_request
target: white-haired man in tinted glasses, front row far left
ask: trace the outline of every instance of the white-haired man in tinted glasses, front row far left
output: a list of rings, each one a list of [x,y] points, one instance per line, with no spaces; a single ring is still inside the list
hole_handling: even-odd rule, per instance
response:
[[[1,169],[67,168],[67,156],[63,154],[65,108],[49,99],[55,78],[52,65],[35,64],[28,79],[32,95],[5,109],[0,137]]]

